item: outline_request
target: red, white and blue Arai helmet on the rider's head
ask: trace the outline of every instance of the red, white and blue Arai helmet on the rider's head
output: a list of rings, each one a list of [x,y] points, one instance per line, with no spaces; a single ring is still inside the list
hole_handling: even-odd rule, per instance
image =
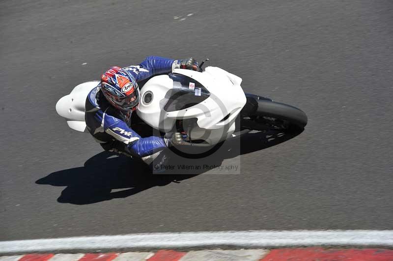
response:
[[[136,110],[140,102],[138,83],[126,70],[113,66],[101,76],[101,90],[113,107]]]

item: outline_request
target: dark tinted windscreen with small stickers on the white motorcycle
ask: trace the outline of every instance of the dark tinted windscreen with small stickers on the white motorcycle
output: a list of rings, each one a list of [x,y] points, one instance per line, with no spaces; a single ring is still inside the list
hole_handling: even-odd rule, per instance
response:
[[[209,91],[193,78],[181,74],[169,74],[169,78],[173,80],[173,89],[165,95],[165,111],[186,109],[210,96]]]

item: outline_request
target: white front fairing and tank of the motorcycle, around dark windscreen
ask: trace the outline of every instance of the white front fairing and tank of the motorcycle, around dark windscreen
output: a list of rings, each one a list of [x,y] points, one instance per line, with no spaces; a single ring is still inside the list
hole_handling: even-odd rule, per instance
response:
[[[199,93],[195,92],[197,88],[200,88],[202,94],[203,87],[206,94],[210,95],[192,106],[166,111],[166,95],[179,86],[168,75],[157,76],[148,80],[141,89],[142,100],[145,93],[152,93],[153,99],[148,104],[140,104],[138,116],[152,128],[163,132],[173,130],[178,119],[196,118],[197,125],[193,126],[192,139],[205,138],[206,131],[209,131],[207,142],[210,144],[231,136],[235,130],[236,116],[246,104],[246,96],[240,86],[242,79],[218,67],[207,67],[202,73],[176,69],[173,75],[177,74],[191,78],[192,83],[200,83],[199,87],[193,86],[196,100],[199,99]],[[187,86],[182,83],[180,87],[184,87],[183,85]]]

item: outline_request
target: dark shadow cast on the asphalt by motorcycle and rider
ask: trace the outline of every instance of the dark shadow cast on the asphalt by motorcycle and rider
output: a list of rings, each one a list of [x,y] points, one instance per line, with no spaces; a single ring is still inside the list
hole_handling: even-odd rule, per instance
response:
[[[289,140],[297,133],[248,133],[237,140],[227,141],[209,157],[200,159],[180,158],[182,164],[220,166],[226,158],[260,151]],[[174,159],[177,160],[177,159]],[[93,204],[116,198],[125,198],[155,186],[180,183],[208,170],[199,169],[179,174],[153,175],[139,160],[117,157],[109,152],[101,152],[89,158],[83,167],[56,171],[37,180],[37,184],[65,186],[57,198],[59,203],[75,205]],[[172,173],[172,172],[171,172]]]

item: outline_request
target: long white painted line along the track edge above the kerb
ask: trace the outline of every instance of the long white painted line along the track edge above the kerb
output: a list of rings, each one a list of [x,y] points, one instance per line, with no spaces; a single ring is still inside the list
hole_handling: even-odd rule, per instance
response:
[[[393,246],[392,230],[227,231],[100,235],[0,241],[0,253],[65,250],[195,248],[233,246]]]

